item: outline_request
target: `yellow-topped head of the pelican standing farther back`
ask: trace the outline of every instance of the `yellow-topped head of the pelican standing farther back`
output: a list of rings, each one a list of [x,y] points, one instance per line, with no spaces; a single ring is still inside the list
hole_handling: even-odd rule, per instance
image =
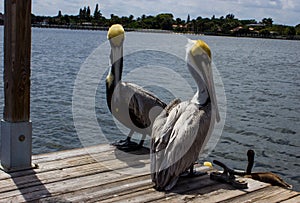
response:
[[[125,31],[120,24],[112,25],[107,33],[107,39],[113,46],[121,46],[124,42]]]

